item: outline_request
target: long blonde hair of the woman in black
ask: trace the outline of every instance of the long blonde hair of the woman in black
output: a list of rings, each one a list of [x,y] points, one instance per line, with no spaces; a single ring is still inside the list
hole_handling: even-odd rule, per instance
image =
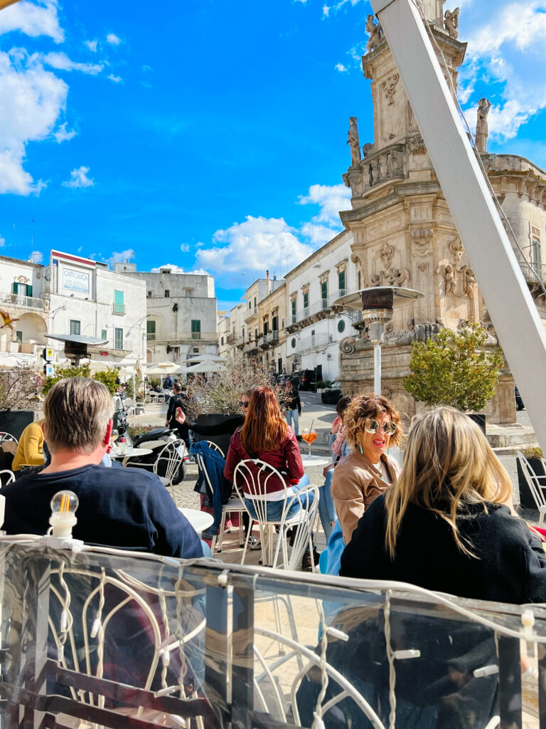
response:
[[[408,504],[444,519],[459,550],[472,555],[457,518],[467,504],[500,504],[510,499],[512,482],[480,428],[455,408],[438,408],[417,421],[408,435],[402,475],[385,494],[385,548],[395,557],[396,539]],[[432,547],[433,548],[433,547]]]

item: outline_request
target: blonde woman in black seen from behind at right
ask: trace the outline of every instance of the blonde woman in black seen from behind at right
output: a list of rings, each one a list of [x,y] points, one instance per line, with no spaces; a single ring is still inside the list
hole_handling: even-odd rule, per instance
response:
[[[544,602],[546,555],[510,513],[511,494],[478,426],[438,408],[412,427],[403,473],[358,524],[341,574],[478,600]]]

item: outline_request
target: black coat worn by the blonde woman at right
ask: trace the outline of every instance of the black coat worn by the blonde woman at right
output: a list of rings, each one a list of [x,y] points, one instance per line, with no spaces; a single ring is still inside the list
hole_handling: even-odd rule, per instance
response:
[[[470,539],[471,558],[457,547],[451,527],[434,512],[410,504],[391,561],[384,548],[384,496],[358,522],[341,555],[339,574],[370,580],[400,580],[437,592],[478,600],[524,604],[546,601],[546,555],[538,537],[505,506],[469,504],[459,518]]]

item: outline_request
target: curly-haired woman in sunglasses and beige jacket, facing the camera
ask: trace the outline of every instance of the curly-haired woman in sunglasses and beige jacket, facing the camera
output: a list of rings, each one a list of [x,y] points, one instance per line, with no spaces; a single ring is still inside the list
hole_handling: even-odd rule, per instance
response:
[[[344,412],[343,424],[352,452],[336,466],[331,493],[347,545],[373,499],[400,475],[400,466],[387,452],[389,446],[400,443],[403,432],[400,413],[380,395],[354,397]]]

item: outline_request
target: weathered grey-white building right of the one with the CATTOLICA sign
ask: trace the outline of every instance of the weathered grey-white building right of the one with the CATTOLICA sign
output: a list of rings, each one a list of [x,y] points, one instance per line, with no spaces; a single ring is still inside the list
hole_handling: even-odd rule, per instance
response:
[[[146,288],[147,362],[168,359],[183,364],[192,356],[218,354],[217,301],[214,278],[180,273],[166,265],[136,271]]]

